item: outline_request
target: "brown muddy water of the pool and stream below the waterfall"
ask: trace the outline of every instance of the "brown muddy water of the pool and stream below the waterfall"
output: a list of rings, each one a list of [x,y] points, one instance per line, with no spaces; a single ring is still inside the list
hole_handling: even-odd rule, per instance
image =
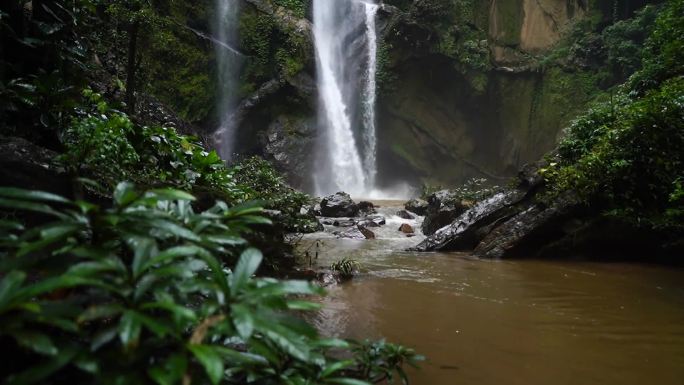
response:
[[[327,336],[386,338],[427,356],[416,385],[684,384],[684,270],[626,263],[491,261],[409,253],[422,236],[384,202],[379,239],[306,236],[320,267],[357,259],[314,322]]]

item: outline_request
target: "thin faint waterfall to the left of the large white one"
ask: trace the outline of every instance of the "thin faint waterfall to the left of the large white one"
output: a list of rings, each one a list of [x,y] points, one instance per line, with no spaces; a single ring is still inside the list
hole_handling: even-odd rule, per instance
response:
[[[240,0],[215,1],[216,15],[213,28],[216,36],[219,127],[214,137],[221,157],[230,160],[235,150],[238,122],[235,121],[233,112],[238,101],[239,72],[243,61],[242,55],[232,48],[238,45]]]

